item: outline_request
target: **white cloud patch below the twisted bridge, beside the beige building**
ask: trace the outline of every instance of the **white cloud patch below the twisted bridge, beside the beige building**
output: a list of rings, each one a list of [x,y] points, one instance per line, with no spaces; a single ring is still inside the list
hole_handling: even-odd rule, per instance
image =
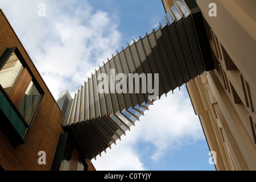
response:
[[[170,92],[164,97],[155,101],[149,111],[144,112],[140,121],[135,122],[135,127],[132,126],[131,131],[127,131],[121,141],[118,140],[117,146],[113,144],[112,150],[106,152],[108,155],[104,154],[96,161],[93,160],[96,168],[137,170],[139,167],[141,170],[147,170],[142,166],[145,156],[143,152],[138,152],[139,144],[154,146],[150,148],[152,152],[148,152],[147,148],[141,150],[146,155],[150,154],[147,160],[158,163],[167,158],[167,152],[204,139],[200,121],[193,111],[185,86],[181,86],[180,91],[176,89],[175,94]],[[125,155],[129,156],[130,160],[127,160]],[[138,161],[140,162],[137,163]]]

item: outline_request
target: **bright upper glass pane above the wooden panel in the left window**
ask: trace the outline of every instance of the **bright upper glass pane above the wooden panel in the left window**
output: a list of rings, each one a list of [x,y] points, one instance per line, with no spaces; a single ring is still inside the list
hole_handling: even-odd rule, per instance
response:
[[[0,71],[0,84],[7,94],[10,94],[24,67],[13,53]]]

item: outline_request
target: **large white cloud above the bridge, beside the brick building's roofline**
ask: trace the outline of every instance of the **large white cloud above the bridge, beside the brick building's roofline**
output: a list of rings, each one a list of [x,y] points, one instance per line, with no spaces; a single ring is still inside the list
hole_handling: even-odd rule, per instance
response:
[[[46,16],[38,16],[38,4]],[[121,42],[116,16],[93,11],[87,1],[1,1],[23,46],[54,97],[68,89],[72,96]]]

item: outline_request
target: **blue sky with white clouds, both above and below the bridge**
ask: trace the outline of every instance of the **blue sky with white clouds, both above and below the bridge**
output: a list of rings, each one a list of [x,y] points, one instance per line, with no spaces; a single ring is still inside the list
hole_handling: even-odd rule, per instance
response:
[[[46,5],[44,17],[39,3]],[[98,64],[150,33],[164,13],[160,0],[1,0],[0,8],[55,98],[65,89],[74,96]],[[92,162],[97,170],[215,170],[208,154],[182,86]]]

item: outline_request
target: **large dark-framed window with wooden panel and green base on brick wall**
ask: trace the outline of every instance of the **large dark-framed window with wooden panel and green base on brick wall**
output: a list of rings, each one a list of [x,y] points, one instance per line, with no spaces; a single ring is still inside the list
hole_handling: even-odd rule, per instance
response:
[[[9,126],[3,130],[7,135],[16,130],[24,142],[42,100],[43,90],[16,47],[7,48],[0,58],[0,91],[1,120],[5,118],[5,126]],[[11,142],[20,144],[14,138]]]

